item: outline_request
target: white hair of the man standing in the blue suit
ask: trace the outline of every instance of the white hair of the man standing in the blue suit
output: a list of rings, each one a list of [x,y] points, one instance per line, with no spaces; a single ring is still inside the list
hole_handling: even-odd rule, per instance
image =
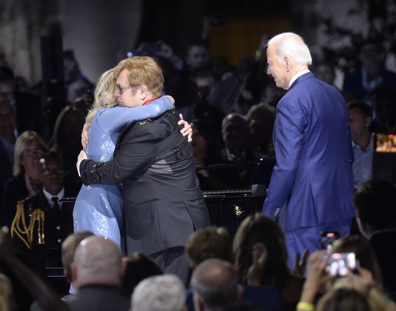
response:
[[[268,41],[267,46],[276,43],[275,53],[278,62],[281,62],[285,56],[289,56],[299,65],[311,65],[312,57],[308,46],[304,40],[295,33],[282,33],[276,35]]]

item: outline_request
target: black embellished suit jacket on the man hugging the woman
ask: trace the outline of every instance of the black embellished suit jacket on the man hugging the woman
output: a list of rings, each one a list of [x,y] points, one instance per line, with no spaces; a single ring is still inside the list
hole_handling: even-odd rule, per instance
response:
[[[168,111],[129,124],[118,138],[113,161],[80,164],[84,184],[123,183],[128,254],[184,246],[195,229],[210,224],[192,145],[179,132],[178,120]]]

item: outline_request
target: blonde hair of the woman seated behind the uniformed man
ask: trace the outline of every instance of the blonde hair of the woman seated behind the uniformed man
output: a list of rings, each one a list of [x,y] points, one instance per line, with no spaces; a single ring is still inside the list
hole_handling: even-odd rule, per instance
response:
[[[43,149],[43,152],[48,151],[47,144],[38,133],[34,131],[25,131],[20,134],[15,141],[14,147],[14,167],[12,169],[14,176],[21,175],[25,172],[21,164],[22,153],[26,151],[33,142],[37,142]]]

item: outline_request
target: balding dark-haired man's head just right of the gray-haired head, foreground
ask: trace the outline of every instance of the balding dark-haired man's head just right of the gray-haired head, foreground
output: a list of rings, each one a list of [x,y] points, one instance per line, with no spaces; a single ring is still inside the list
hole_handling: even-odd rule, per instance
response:
[[[242,287],[232,264],[219,259],[207,259],[193,272],[191,285],[196,311],[221,310],[241,300]]]

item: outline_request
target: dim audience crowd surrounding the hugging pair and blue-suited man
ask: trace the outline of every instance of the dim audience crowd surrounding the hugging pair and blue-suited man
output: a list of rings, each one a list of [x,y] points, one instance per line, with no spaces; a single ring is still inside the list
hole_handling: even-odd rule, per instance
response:
[[[202,190],[269,183],[276,105],[286,90],[266,74],[260,51],[236,66],[210,57],[202,41],[180,56],[164,42],[142,43],[129,55],[151,56],[161,66],[163,94],[175,99],[193,128]],[[362,42],[359,67],[345,73],[340,89],[349,109],[354,183],[360,186],[354,197],[360,236],[337,240],[330,252],[309,259],[301,254],[290,271],[284,234],[265,216],[248,216],[233,241],[225,228],[204,228],[185,248],[192,270],[187,290],[143,254],[121,258],[111,241],[73,234],[73,203],[57,201],[76,196],[81,187],[75,165],[93,103],[94,84],[73,52],[63,53],[63,100],[1,66],[0,224],[12,239],[0,233],[0,311],[396,310],[388,252],[396,234],[395,187],[371,180],[373,133],[396,132],[396,74],[385,69],[381,51],[378,42]],[[334,85],[336,68],[329,63],[314,62],[310,70]],[[346,277],[329,275],[331,253],[347,252],[356,254],[360,267]],[[69,285],[50,276],[63,269],[78,291],[61,301],[57,297]]]

